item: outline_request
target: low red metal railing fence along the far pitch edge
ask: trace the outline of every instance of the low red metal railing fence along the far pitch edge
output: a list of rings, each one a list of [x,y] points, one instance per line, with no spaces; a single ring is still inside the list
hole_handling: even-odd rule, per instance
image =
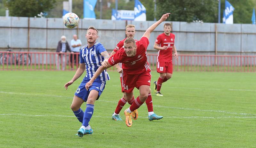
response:
[[[70,56],[76,54],[76,62]],[[0,51],[0,70],[73,70],[79,67],[79,53]],[[74,61],[74,56],[71,56]],[[151,70],[156,70],[157,54],[148,54]],[[255,72],[256,56],[179,55],[172,58],[174,71]],[[114,70],[111,68],[110,70]]]

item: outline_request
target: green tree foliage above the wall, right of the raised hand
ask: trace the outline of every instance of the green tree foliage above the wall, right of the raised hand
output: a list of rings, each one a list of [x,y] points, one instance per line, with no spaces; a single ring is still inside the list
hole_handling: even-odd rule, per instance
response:
[[[168,21],[203,20],[204,22],[218,21],[218,1],[216,0],[157,0],[156,19],[170,12]]]

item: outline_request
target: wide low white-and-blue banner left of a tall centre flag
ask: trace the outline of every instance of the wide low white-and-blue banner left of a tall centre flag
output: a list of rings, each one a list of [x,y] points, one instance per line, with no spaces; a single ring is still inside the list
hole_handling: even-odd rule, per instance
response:
[[[111,20],[134,20],[134,11],[112,9]]]

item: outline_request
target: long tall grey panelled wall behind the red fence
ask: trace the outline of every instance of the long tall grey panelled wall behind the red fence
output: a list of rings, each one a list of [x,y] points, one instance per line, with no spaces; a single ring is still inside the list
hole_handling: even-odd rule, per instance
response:
[[[68,29],[62,18],[27,18],[0,17],[0,50],[10,45],[16,51],[55,51],[61,35],[72,40],[73,34],[86,44],[85,33],[89,26],[99,30],[98,42],[111,51],[118,41],[125,38],[125,26],[136,26],[135,39],[139,40],[144,31],[154,21],[113,21],[80,19],[79,28]],[[4,22],[4,23],[3,23]],[[175,46],[180,54],[215,54],[219,55],[256,55],[256,26],[252,24],[215,24],[172,22],[172,33],[175,34]],[[163,33],[164,22],[160,24],[149,39],[148,52],[153,49],[158,34]],[[216,36],[217,34],[217,36]],[[215,41],[215,39],[217,39]]]

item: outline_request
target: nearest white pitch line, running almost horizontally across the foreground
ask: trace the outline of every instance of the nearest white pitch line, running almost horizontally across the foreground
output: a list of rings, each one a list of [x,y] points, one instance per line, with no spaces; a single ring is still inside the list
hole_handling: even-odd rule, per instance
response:
[[[33,117],[74,117],[75,115],[27,115],[27,114],[0,114],[1,116],[10,116],[10,115],[15,115],[15,116],[33,116]],[[111,116],[93,116],[94,118],[111,118]],[[148,118],[148,117],[140,117],[139,118]],[[239,117],[239,116],[221,116],[221,117],[205,117],[205,116],[188,116],[188,117],[183,117],[183,116],[164,116],[164,118],[206,118],[206,119],[219,119],[219,118],[256,118],[254,117]]]

